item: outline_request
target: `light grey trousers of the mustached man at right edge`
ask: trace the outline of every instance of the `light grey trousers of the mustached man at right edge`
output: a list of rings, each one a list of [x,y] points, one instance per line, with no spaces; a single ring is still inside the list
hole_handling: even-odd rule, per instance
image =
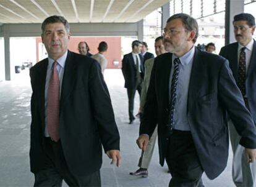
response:
[[[233,149],[232,177],[238,187],[255,187],[256,184],[256,162],[248,163],[245,148],[239,144],[241,136],[234,128],[233,122],[229,120],[229,134]]]

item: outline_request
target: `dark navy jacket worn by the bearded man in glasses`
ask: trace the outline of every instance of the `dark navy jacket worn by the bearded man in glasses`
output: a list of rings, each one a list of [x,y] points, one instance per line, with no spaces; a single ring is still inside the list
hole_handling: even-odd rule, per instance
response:
[[[168,148],[169,76],[172,54],[155,58],[151,73],[140,134],[151,136],[158,124],[160,164],[164,164]],[[203,170],[210,179],[218,177],[226,167],[229,150],[226,111],[242,136],[240,144],[256,148],[256,129],[252,116],[244,106],[228,60],[195,49],[187,119]]]

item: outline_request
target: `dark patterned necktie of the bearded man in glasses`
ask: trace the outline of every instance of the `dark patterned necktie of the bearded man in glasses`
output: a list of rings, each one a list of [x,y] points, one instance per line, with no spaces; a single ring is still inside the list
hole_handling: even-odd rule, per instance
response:
[[[174,59],[174,68],[173,68],[173,78],[171,79],[171,102],[170,102],[170,113],[169,113],[169,121],[168,126],[169,130],[173,130],[173,114],[174,114],[174,106],[177,99],[177,82],[178,82],[178,76],[179,76],[179,64],[181,61],[179,58]]]

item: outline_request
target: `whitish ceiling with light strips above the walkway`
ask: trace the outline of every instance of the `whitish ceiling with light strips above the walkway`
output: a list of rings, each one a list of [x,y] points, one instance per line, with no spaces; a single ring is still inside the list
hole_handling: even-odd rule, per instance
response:
[[[41,23],[62,15],[69,23],[138,22],[170,0],[0,0],[1,23]]]

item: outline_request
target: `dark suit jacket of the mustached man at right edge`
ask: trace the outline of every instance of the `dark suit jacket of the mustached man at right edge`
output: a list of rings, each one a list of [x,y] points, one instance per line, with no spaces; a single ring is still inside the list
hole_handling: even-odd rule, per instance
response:
[[[233,76],[237,81],[238,75],[238,55],[237,55],[238,42],[229,44],[221,48],[220,55],[227,58],[229,66],[233,72]],[[256,42],[254,41],[254,47],[252,49],[252,55],[250,57],[250,65],[247,70],[245,80],[245,90],[248,98],[248,105],[250,113],[254,117],[254,123],[256,124]]]

